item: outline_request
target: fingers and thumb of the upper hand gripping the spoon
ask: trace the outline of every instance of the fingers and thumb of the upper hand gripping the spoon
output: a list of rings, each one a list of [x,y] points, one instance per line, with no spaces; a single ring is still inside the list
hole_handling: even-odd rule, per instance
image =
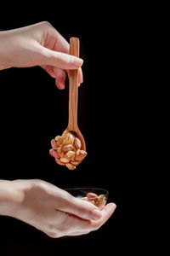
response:
[[[65,89],[65,70],[78,69],[78,84],[82,84],[82,59],[69,55],[70,45],[51,24],[42,22],[42,25],[47,28],[45,33],[47,47],[38,44],[41,56],[39,65],[55,78],[55,84],[60,90]]]

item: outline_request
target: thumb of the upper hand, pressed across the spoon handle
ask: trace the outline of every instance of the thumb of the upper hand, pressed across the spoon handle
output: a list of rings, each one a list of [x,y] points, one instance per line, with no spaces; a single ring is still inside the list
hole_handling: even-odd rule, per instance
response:
[[[50,65],[68,70],[82,67],[83,61],[81,58],[51,50],[43,47],[42,45],[40,45],[40,47],[42,48],[41,65]]]

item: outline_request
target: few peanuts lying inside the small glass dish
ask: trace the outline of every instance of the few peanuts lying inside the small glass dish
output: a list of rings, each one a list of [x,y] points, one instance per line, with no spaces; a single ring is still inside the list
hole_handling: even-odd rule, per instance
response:
[[[96,207],[102,208],[105,206],[105,195],[96,195],[94,193],[88,193],[86,197],[82,197],[82,200],[93,203]]]

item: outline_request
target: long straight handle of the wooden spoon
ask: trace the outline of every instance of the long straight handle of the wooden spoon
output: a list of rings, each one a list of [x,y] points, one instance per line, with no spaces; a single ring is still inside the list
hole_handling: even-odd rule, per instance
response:
[[[70,38],[70,55],[79,57],[79,39]],[[78,69],[69,71],[69,122],[68,130],[77,131]]]

